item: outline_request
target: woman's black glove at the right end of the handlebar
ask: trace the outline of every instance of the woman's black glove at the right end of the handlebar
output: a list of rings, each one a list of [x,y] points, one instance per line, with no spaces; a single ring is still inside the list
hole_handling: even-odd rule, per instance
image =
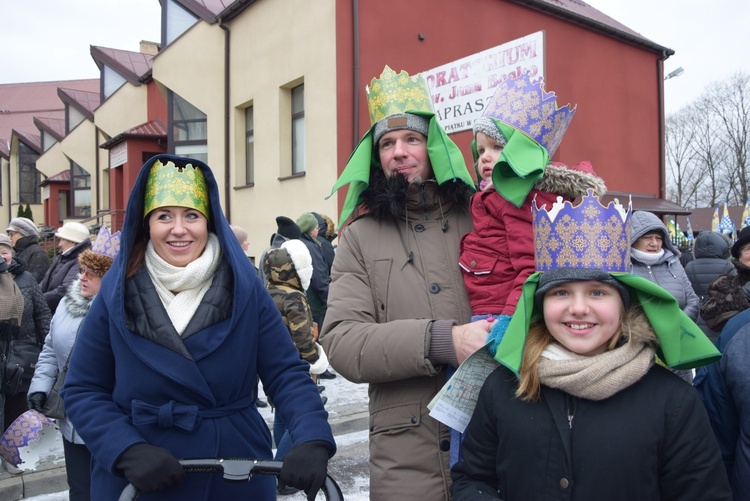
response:
[[[313,501],[326,481],[330,455],[330,446],[320,440],[295,445],[284,456],[279,487],[283,489],[291,485],[301,489],[307,494],[308,501]]]

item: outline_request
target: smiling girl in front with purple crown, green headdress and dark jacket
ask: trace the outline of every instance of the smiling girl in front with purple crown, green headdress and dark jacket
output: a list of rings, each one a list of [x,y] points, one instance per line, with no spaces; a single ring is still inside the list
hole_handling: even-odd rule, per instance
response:
[[[629,211],[593,194],[533,210],[537,272],[479,392],[453,501],[731,500],[700,398],[655,363],[720,354],[671,294],[627,272]]]

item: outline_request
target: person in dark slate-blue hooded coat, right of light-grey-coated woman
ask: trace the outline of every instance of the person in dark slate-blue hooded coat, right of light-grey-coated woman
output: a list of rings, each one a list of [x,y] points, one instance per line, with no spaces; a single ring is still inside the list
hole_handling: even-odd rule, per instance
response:
[[[693,247],[695,259],[685,266],[693,290],[701,300],[701,306],[708,299],[708,286],[723,274],[734,270],[734,266],[727,259],[729,257],[729,242],[715,231],[702,231],[695,239]],[[716,343],[719,333],[710,329],[703,317],[699,316],[696,321],[698,326],[706,335]]]

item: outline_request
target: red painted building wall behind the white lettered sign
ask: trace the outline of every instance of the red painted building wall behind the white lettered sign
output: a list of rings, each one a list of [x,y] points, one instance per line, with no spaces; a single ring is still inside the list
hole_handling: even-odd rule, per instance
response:
[[[577,105],[554,160],[591,161],[613,191],[660,194],[659,54],[504,0],[358,4],[357,139],[370,127],[365,85],[386,64],[413,74],[544,30],[545,88],[557,94],[559,106]],[[340,172],[354,147],[351,0],[337,2],[336,23]],[[451,137],[473,174],[471,131]]]

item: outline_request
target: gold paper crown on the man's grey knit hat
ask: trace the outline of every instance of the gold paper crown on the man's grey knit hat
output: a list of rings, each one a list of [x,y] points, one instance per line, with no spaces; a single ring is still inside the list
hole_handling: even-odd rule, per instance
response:
[[[396,74],[387,65],[380,78],[373,78],[365,87],[370,125],[391,115],[407,111],[435,113],[432,108],[430,87],[421,73],[409,76],[405,71]]]

